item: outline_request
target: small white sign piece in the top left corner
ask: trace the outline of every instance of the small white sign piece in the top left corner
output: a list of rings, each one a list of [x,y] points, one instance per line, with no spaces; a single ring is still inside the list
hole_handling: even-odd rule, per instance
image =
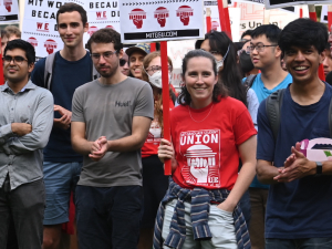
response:
[[[0,2],[0,24],[19,22],[18,0],[3,0]]]

